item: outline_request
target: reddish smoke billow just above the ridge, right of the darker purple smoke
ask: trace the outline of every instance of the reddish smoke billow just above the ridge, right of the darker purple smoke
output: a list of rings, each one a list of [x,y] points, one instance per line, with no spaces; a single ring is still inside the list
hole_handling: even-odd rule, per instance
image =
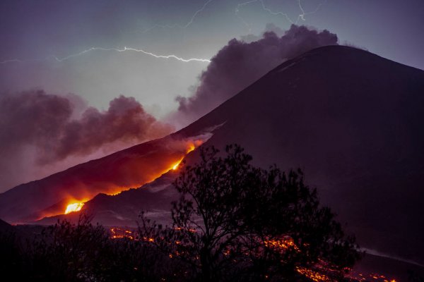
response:
[[[56,157],[88,154],[115,141],[139,143],[163,137],[172,129],[170,125],[160,123],[147,114],[133,97],[120,96],[110,102],[107,111],[89,108],[81,119],[66,123]]]

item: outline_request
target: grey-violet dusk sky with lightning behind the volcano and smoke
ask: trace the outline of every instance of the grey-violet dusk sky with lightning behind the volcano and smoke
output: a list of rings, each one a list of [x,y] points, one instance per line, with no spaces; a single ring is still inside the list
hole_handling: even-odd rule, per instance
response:
[[[139,103],[148,118],[168,123],[174,130],[189,122],[174,122],[177,97],[180,101],[196,92],[208,61],[230,39],[249,42],[265,30],[278,30],[282,35],[292,24],[325,29],[338,37],[338,44],[351,44],[424,69],[422,0],[3,0],[0,13],[0,98],[35,90],[61,96],[71,93],[76,94],[74,108],[79,105],[82,112],[93,106],[100,114],[108,111],[106,116],[113,114],[110,102],[122,94],[135,100],[118,99],[116,109]],[[70,113],[78,116],[76,110]],[[14,119],[3,115],[0,137],[18,134],[10,131]],[[155,134],[143,138],[172,131],[167,126],[155,124]],[[79,159],[67,159],[61,165],[51,156],[47,161],[45,156],[33,157],[40,167],[30,171],[32,162],[24,165],[22,156],[38,154],[45,140],[21,145],[13,137],[10,144],[3,141],[1,157],[14,152],[13,156],[20,157],[11,162],[28,174],[17,180],[10,174],[10,163],[0,163],[0,191],[105,153],[90,151],[89,157],[87,152],[78,153]],[[37,149],[28,151],[31,146]]]

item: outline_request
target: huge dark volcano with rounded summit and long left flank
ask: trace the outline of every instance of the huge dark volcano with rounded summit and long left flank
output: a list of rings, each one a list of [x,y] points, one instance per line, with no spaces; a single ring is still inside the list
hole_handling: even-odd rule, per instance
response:
[[[368,51],[329,46],[286,61],[165,140],[195,139],[207,133],[202,146],[223,148],[237,143],[252,154],[256,166],[302,168],[322,204],[338,214],[362,247],[424,264],[423,128],[424,71]],[[40,193],[57,189],[63,177],[79,181],[95,176],[95,180],[84,180],[87,186],[103,179],[113,182],[117,166],[112,160],[121,160],[122,171],[129,161],[123,156],[134,156],[137,150],[142,151],[137,156],[154,154],[158,151],[153,148],[167,147],[163,142],[153,140],[4,192],[0,218],[34,220],[31,213],[42,214],[62,200],[54,197],[48,204],[34,204],[34,197],[40,196],[42,202]],[[137,166],[146,166],[146,161],[155,164],[171,154],[166,152],[133,160]],[[197,152],[185,159],[193,164]],[[147,182],[144,171],[139,173]],[[119,179],[124,176],[120,173]],[[176,197],[170,184],[175,176],[177,172],[170,170],[139,189],[99,194],[83,210],[106,225],[134,225],[141,209],[165,219]],[[71,183],[66,190],[73,187]],[[39,222],[52,223],[57,218]]]

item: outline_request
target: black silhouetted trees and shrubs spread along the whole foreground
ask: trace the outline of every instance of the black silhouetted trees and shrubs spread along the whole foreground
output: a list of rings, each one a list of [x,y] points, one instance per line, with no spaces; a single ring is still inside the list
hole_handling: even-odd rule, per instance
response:
[[[1,235],[4,275],[25,281],[343,281],[359,258],[302,171],[250,164],[237,145],[201,149],[175,180],[172,226],[141,213],[137,232],[81,216],[34,237]]]

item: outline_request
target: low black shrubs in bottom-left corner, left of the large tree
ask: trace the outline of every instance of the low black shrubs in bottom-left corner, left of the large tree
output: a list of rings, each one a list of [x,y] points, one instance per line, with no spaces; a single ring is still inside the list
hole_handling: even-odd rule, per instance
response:
[[[142,240],[110,238],[91,217],[35,227],[27,240],[0,234],[4,277],[11,281],[173,281],[178,264]],[[29,232],[30,233],[30,232]]]

